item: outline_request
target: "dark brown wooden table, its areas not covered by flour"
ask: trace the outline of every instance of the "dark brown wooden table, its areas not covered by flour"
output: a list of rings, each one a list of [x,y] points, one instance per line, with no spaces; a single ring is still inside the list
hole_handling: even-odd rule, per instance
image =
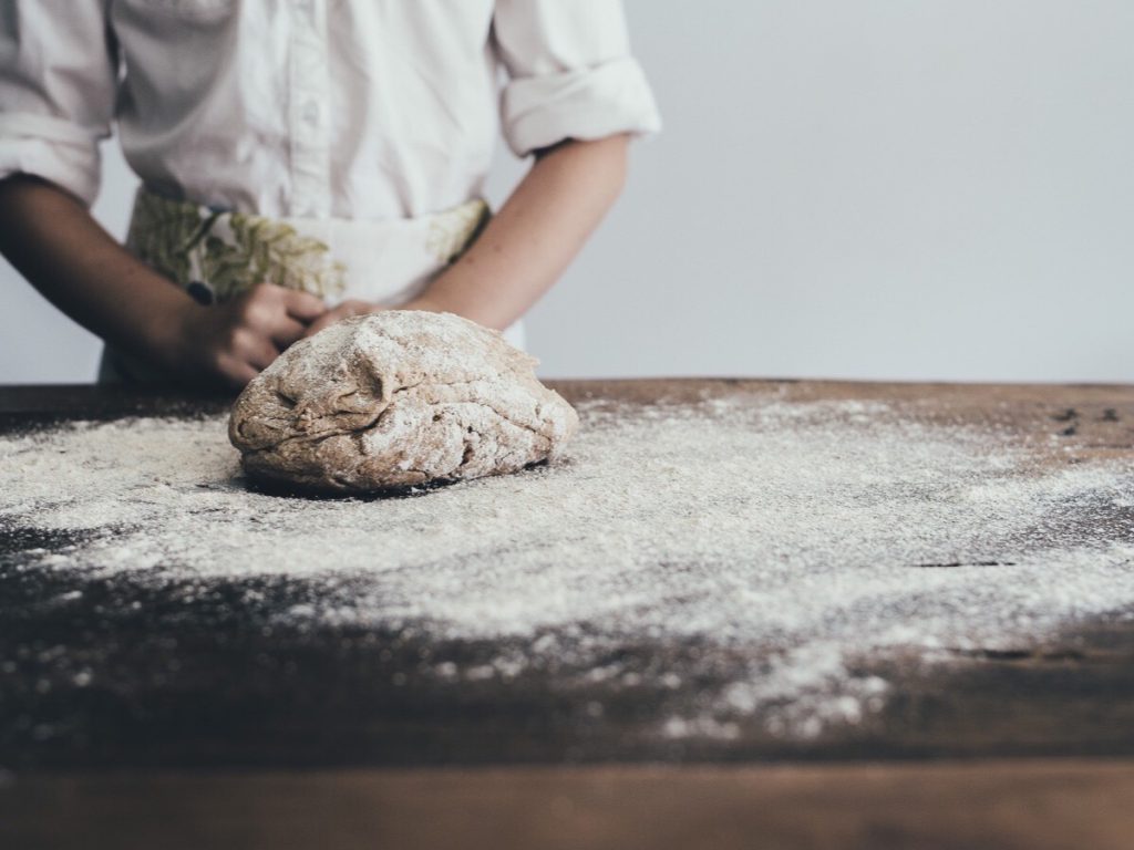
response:
[[[768,389],[882,400],[1056,444],[1058,462],[1134,457],[1129,386],[555,385],[569,400],[626,403]],[[6,388],[0,433],[227,402]],[[1114,530],[1127,539],[1128,519]],[[66,589],[60,579],[18,569],[22,552],[52,543],[0,537],[0,847],[1134,847],[1129,619],[968,651],[931,675],[887,670],[894,697],[854,731],[661,746],[635,734],[633,700],[585,723],[576,709],[594,694],[566,699],[545,681],[445,702],[424,685],[395,692],[375,673],[412,670],[412,641],[348,628],[263,635],[273,609],[308,592],[302,583],[256,579],[254,596],[220,583],[175,617],[169,588],[92,579],[62,617],[41,604]],[[680,665],[683,647],[665,652]],[[37,692],[60,653],[127,671],[130,685]],[[69,731],[37,740],[40,723]]]

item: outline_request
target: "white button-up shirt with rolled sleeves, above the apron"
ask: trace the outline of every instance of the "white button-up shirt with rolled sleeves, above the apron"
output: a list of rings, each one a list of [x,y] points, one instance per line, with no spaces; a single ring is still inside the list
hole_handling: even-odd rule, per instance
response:
[[[162,195],[320,219],[463,203],[499,129],[525,155],[660,126],[619,0],[3,3],[0,177],[87,204],[116,121]]]

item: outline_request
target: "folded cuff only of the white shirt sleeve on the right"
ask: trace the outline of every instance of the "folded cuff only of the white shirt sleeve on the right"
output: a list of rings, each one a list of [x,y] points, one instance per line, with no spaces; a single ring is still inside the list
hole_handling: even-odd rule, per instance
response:
[[[567,138],[596,139],[661,129],[642,67],[632,57],[511,79],[500,101],[503,137],[517,156]]]

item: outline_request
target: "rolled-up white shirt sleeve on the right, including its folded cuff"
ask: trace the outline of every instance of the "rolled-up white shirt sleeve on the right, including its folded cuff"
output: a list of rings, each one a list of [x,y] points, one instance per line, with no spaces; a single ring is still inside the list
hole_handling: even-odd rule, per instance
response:
[[[661,128],[620,0],[497,0],[492,29],[508,73],[501,128],[518,156],[567,138]]]

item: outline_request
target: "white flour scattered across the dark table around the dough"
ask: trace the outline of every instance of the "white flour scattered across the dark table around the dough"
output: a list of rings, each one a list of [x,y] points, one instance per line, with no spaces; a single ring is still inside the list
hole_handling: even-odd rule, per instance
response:
[[[5,436],[0,532],[88,532],[25,569],[333,580],[350,593],[281,617],[521,641],[439,664],[456,686],[561,657],[633,686],[600,662],[628,644],[727,655],[728,683],[662,721],[670,738],[814,736],[885,700],[857,660],[1033,645],[1134,611],[1129,464],[1044,468],[990,431],[860,402],[581,414],[560,465],[378,501],[248,492],[222,417]]]

